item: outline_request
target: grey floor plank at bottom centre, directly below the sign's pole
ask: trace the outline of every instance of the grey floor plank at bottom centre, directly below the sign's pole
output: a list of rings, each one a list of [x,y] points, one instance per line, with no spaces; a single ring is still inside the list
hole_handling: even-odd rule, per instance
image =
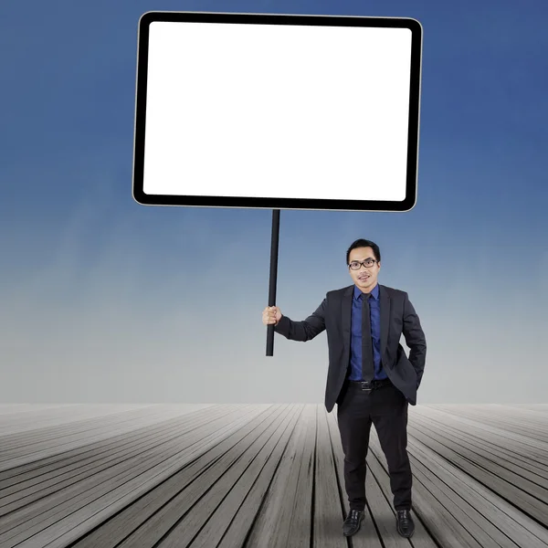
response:
[[[316,406],[305,405],[246,548],[310,548]]]

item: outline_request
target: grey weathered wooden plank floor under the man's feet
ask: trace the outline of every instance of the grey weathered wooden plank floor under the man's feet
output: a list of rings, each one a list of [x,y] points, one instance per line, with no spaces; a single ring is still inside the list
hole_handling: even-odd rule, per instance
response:
[[[1,548],[548,548],[548,405],[409,408],[416,532],[372,429],[362,530],[336,412],[0,406]]]

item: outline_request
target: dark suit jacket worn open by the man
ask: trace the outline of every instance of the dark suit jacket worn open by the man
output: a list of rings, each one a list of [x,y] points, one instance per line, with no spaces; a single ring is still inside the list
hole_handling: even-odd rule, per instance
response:
[[[282,316],[275,332],[291,341],[310,341],[327,332],[329,369],[325,388],[325,406],[332,411],[341,395],[350,368],[350,323],[354,286],[329,291],[321,305],[303,321]],[[416,389],[420,385],[427,357],[427,341],[416,311],[405,291],[379,284],[381,300],[381,359],[388,378],[416,405]],[[407,358],[400,344],[402,334],[409,347]]]

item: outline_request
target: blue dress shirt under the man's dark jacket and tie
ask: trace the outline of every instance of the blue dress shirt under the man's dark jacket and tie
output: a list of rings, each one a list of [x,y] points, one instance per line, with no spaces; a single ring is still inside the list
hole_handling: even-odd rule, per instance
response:
[[[362,380],[362,290],[354,286],[352,299],[352,320],[350,336],[350,374],[351,381]],[[371,339],[373,342],[374,379],[385,379],[381,364],[381,302],[379,300],[379,285],[375,285],[369,299],[371,312]]]

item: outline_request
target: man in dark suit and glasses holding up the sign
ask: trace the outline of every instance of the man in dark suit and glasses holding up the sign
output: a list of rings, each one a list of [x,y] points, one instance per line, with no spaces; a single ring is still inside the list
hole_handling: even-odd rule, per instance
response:
[[[359,531],[365,508],[365,458],[371,424],[385,453],[394,495],[397,532],[410,537],[411,466],[407,455],[407,406],[416,405],[427,342],[405,291],[379,285],[381,253],[370,240],[358,239],[346,252],[353,285],[329,291],[304,321],[292,321],[278,307],[267,307],[265,325],[291,341],[310,341],[327,332],[329,369],[325,406],[337,404],[344,453],[344,484],[350,511],[345,536]],[[407,358],[400,344],[404,335]]]

